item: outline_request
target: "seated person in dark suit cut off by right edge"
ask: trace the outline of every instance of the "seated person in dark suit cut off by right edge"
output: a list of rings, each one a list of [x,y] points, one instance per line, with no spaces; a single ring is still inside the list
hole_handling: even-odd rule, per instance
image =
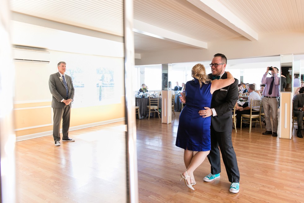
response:
[[[303,138],[301,129],[302,129],[302,122],[303,122],[303,111],[304,111],[304,87],[301,87],[299,90],[299,94],[294,96],[293,99],[293,116],[297,117],[298,121],[298,130],[297,130],[297,137]]]

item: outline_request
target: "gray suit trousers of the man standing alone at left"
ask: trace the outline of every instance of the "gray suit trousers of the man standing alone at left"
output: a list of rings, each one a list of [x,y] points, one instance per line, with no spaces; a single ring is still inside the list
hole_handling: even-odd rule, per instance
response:
[[[60,122],[62,118],[62,139],[69,138],[71,107],[66,105],[64,108],[53,108],[53,137],[54,141],[60,141]]]

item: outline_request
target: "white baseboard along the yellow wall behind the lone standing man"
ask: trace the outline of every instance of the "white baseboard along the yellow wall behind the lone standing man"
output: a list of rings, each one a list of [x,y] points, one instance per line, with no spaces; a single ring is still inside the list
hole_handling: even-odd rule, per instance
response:
[[[108,121],[89,123],[89,124],[85,124],[85,125],[70,127],[69,131],[80,130],[83,128],[100,126],[100,125],[105,125],[108,123],[114,123],[114,122],[119,122],[119,121],[124,121],[124,120],[125,120],[125,118],[117,118],[117,119],[112,119],[112,120],[108,120]],[[60,133],[62,133],[62,129],[60,129]],[[18,136],[18,137],[16,137],[16,142],[34,139],[34,138],[43,137],[43,136],[49,136],[52,134],[53,134],[53,131],[45,131],[45,132],[39,132],[39,133],[34,133],[34,134],[29,134],[29,135]]]

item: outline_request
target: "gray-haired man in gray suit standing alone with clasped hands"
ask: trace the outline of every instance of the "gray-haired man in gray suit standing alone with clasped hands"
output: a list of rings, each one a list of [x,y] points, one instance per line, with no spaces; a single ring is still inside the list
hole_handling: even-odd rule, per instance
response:
[[[50,75],[49,88],[52,99],[52,108],[54,112],[53,137],[55,146],[60,146],[60,122],[62,118],[62,141],[73,142],[69,138],[71,102],[74,99],[74,86],[72,78],[65,75],[66,63],[59,62],[58,72]]]

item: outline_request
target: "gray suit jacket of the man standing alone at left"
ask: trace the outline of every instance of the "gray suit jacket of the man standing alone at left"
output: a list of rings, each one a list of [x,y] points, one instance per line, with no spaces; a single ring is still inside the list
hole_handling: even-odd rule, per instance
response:
[[[74,100],[74,86],[73,86],[72,78],[68,75],[65,75],[65,80],[69,88],[69,95],[68,98],[66,98],[65,85],[63,84],[62,79],[60,80],[59,77],[60,77],[59,72],[50,75],[49,88],[51,94],[53,95],[52,108],[64,108],[65,103],[60,102],[62,99]],[[72,107],[72,103],[70,103],[69,105],[70,107]]]

